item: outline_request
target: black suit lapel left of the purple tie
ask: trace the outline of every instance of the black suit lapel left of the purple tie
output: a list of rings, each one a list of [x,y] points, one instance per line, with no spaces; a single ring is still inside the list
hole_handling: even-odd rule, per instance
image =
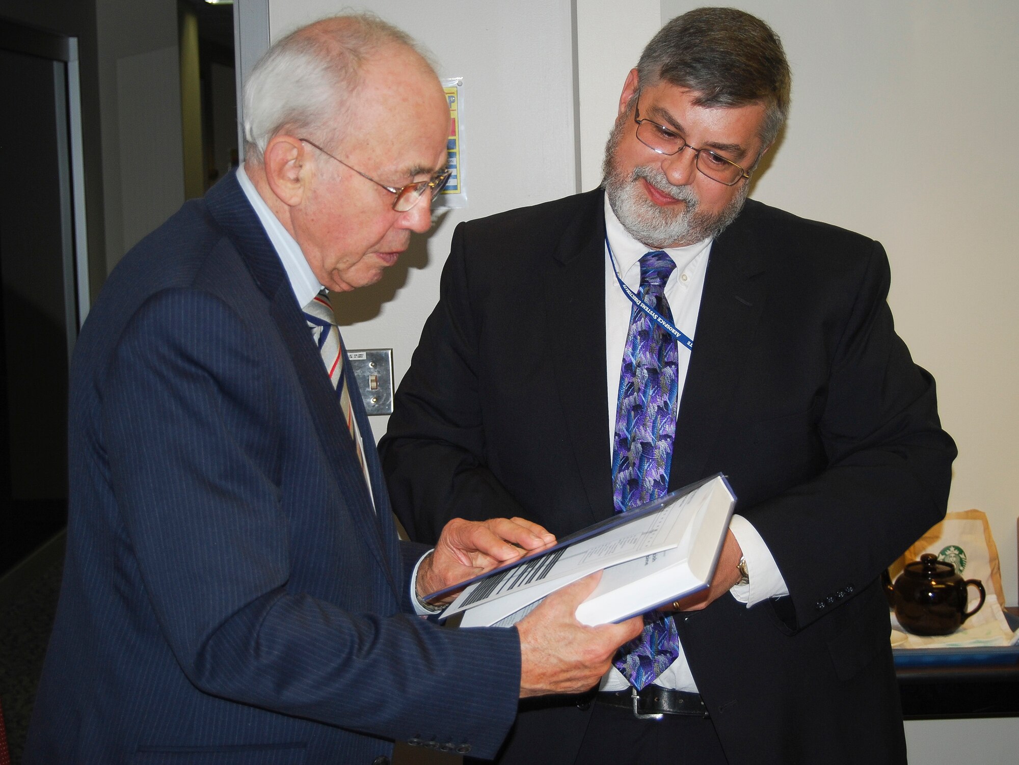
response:
[[[587,496],[587,512],[564,518],[579,529],[612,514],[611,460],[605,408],[605,218],[600,190],[571,221],[541,282],[549,356],[568,441]]]

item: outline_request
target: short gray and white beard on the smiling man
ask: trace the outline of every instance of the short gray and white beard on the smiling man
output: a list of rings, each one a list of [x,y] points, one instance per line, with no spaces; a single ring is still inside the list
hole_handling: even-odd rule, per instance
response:
[[[698,210],[700,199],[692,185],[673,185],[660,165],[638,165],[629,175],[624,172],[615,154],[628,126],[628,115],[624,115],[615,121],[608,135],[602,163],[602,184],[612,212],[631,236],[654,250],[685,247],[717,236],[736,220],[746,202],[749,183],[743,183],[725,208],[717,213],[709,213]],[[695,169],[694,172],[700,170]],[[667,208],[654,204],[637,187],[640,178],[684,204]]]

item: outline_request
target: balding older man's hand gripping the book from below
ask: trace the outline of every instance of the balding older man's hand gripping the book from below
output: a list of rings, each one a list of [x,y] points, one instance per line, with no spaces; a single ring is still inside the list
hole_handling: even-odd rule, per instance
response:
[[[600,626],[577,621],[577,606],[600,580],[598,571],[564,587],[517,622],[522,699],[587,691],[608,671],[615,649],[640,635],[644,626],[640,616]]]

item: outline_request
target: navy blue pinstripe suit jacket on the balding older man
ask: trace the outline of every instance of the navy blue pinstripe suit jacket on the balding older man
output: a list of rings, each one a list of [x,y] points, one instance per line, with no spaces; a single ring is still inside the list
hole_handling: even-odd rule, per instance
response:
[[[25,763],[495,751],[519,639],[412,615],[421,549],[401,560],[353,399],[375,509],[233,174],[128,253],[74,351],[66,568]]]

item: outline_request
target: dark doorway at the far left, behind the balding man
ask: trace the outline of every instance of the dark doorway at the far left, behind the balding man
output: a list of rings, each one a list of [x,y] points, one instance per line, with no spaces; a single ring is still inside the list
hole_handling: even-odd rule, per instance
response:
[[[76,40],[0,20],[0,575],[67,513],[67,375],[88,311]]]

